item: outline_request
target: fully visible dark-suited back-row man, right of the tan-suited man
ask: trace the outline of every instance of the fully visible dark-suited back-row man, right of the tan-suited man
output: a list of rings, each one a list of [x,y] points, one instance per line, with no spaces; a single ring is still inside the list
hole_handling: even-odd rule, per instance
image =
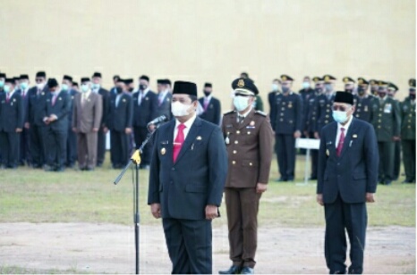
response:
[[[129,152],[132,118],[132,96],[128,94],[123,79],[119,79],[117,82],[117,95],[110,98],[106,121],[106,126],[110,130],[111,162],[115,169],[123,168],[129,161],[132,153]]]

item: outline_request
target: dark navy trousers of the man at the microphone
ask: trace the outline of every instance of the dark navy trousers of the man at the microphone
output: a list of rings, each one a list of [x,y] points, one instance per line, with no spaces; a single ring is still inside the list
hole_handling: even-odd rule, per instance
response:
[[[162,219],[173,274],[212,273],[212,232],[209,220]]]

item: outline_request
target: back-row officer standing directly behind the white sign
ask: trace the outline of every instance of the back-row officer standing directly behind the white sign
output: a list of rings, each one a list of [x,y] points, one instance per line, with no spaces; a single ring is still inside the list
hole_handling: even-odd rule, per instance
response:
[[[319,95],[323,92],[324,89],[324,82],[323,79],[320,77],[314,77],[313,82],[314,85],[314,94],[312,94],[308,101],[304,104],[306,105],[305,108],[305,116],[304,116],[304,136],[308,138],[316,138],[314,137],[314,129],[316,127],[316,100]],[[311,150],[311,177],[310,180],[317,179],[317,162],[318,162],[318,150]]]

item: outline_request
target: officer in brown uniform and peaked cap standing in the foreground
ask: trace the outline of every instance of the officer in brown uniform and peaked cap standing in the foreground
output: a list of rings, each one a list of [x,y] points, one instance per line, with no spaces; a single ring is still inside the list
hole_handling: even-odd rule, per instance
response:
[[[288,82],[286,78],[285,81]],[[258,94],[253,82],[235,79],[232,87],[236,111],[224,115],[222,130],[229,155],[225,197],[233,265],[219,273],[250,274],[256,263],[257,215],[260,196],[268,184],[273,133],[266,113],[252,107]],[[285,87],[288,87],[285,93],[289,96],[289,83],[285,83]]]

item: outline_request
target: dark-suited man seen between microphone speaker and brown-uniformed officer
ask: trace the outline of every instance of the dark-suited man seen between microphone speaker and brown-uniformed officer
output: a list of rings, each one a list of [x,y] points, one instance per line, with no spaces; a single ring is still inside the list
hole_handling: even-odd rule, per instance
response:
[[[203,93],[204,96],[199,99],[200,105],[204,110],[200,114],[200,118],[213,124],[220,125],[221,104],[216,97],[212,96],[213,87],[211,83],[204,84]]]

